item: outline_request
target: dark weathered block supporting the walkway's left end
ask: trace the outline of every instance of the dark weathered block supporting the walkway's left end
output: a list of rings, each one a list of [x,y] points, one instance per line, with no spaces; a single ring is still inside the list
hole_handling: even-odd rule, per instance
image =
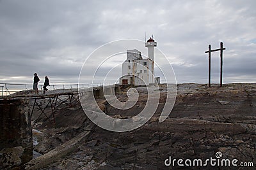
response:
[[[0,169],[5,167],[4,165],[10,165],[10,162],[12,166],[8,167],[28,162],[32,159],[33,152],[29,101],[26,99],[1,100],[0,112]]]

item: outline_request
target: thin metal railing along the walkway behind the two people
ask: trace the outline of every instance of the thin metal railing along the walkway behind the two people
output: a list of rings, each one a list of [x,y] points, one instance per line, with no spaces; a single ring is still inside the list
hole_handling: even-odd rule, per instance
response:
[[[78,89],[89,89],[92,87],[101,87],[115,85],[115,83],[88,83],[88,84],[51,84],[47,89],[51,90],[53,93],[56,92],[74,92],[78,91]],[[38,85],[38,92],[40,94],[43,93],[43,86]],[[15,83],[0,83],[1,93],[0,96],[8,96],[20,92],[22,94],[32,94],[33,93],[33,85],[31,84],[15,84]]]

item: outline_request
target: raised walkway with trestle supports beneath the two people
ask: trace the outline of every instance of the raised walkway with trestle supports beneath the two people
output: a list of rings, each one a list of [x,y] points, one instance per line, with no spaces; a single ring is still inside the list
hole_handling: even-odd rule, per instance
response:
[[[118,85],[114,86],[115,88],[118,87]],[[112,87],[113,85],[109,85],[107,88]],[[38,94],[35,94],[33,90],[26,89],[7,96],[0,96],[0,100],[29,100],[29,103],[31,104],[31,117],[35,111],[39,111],[38,117],[35,119],[35,122],[33,122],[33,126],[42,117],[45,117],[46,120],[49,120],[55,124],[54,113],[58,110],[58,108],[60,108],[61,105],[65,105],[70,108],[77,106],[80,104],[79,97],[83,96],[84,92],[93,91],[96,98],[102,95],[102,89],[103,85],[97,87],[86,86],[84,89],[79,90],[77,88],[47,90],[45,94],[43,94],[42,90],[39,90]]]

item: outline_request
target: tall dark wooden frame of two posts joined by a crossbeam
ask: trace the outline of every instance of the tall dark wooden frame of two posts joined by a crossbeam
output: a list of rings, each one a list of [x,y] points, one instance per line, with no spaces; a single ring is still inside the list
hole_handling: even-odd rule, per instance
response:
[[[208,51],[205,53],[208,53],[208,59],[209,59],[209,66],[208,66],[208,81],[209,81],[209,87],[211,87],[211,52],[220,51],[220,87],[222,87],[222,67],[223,67],[223,50],[226,50],[226,48],[223,48],[223,43],[220,42],[220,48],[211,50],[211,45],[208,46]]]

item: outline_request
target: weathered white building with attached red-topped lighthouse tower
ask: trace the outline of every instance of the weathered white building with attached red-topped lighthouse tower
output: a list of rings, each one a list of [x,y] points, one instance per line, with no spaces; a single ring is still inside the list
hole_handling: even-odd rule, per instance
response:
[[[154,78],[154,48],[157,46],[156,41],[151,37],[145,42],[148,48],[148,58],[143,59],[141,52],[134,50],[127,50],[127,59],[122,64],[122,77],[120,78],[120,85],[150,85],[159,83]]]

